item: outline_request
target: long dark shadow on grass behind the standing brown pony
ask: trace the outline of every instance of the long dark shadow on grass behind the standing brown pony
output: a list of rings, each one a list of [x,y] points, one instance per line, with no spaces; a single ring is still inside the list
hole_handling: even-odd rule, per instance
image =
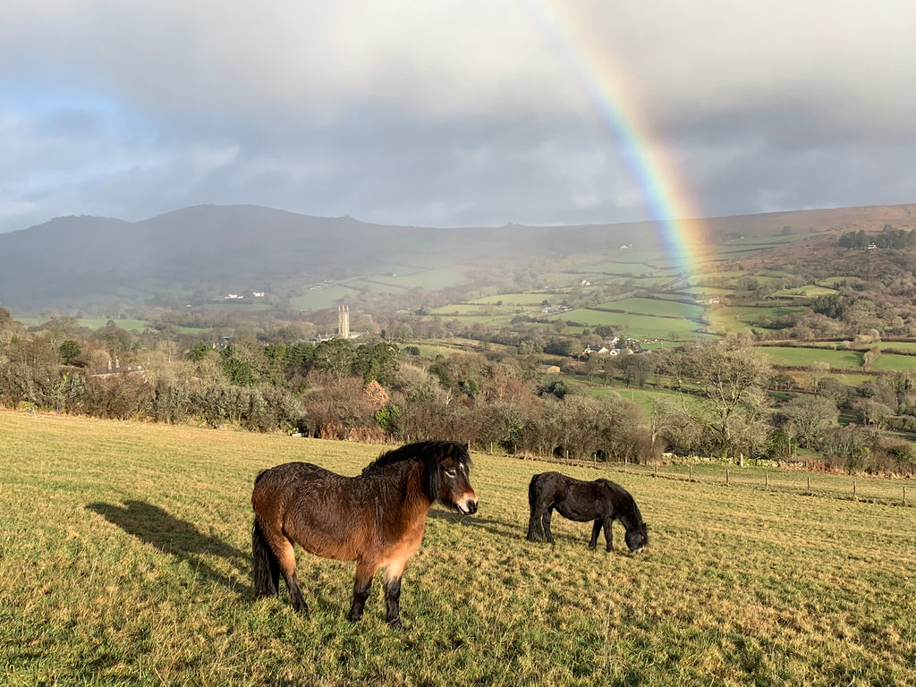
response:
[[[238,589],[239,578],[247,579],[249,571],[242,566],[242,562],[248,560],[249,554],[213,535],[202,533],[193,523],[175,518],[161,507],[145,501],[125,501],[123,506],[91,503],[86,508],[98,513],[138,540],[152,544],[159,551],[169,553],[179,561],[188,562],[195,573],[207,580],[223,584],[230,589]],[[204,555],[227,559],[239,573],[238,577],[233,579],[214,570],[203,560]],[[247,585],[242,589],[246,587]]]

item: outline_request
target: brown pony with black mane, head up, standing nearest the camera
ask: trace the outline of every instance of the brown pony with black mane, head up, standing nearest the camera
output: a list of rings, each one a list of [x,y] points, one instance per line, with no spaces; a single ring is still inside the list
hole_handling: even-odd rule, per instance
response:
[[[296,577],[295,542],[324,558],[356,562],[354,622],[363,617],[373,575],[387,566],[387,622],[401,627],[401,574],[420,547],[432,504],[439,501],[462,513],[477,510],[470,467],[460,443],[419,442],[383,453],[356,477],[311,463],[261,472],[251,495],[256,594],[278,595],[282,574],[293,608],[308,611]]]

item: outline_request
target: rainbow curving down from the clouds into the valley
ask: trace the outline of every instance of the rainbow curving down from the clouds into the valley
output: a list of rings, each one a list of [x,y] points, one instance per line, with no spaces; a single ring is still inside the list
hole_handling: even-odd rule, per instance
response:
[[[578,73],[602,124],[620,146],[629,168],[646,196],[651,219],[660,226],[661,239],[672,267],[693,271],[697,265],[699,217],[671,165],[670,158],[654,144],[648,118],[627,87],[627,80],[575,16],[565,0],[532,0],[544,30]]]

